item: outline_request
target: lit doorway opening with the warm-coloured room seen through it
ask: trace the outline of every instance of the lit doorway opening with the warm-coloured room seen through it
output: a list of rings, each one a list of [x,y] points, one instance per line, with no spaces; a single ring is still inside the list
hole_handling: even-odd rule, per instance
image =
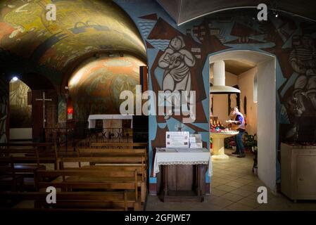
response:
[[[240,93],[214,94],[212,93],[213,65],[219,60],[224,60],[226,65],[225,85],[234,86]],[[276,191],[277,177],[277,125],[276,125],[276,84],[275,84],[275,58],[274,56],[249,50],[233,50],[217,53],[209,58],[210,63],[210,121],[215,127],[220,125],[225,128],[226,120],[232,107],[239,111],[246,119],[246,132],[243,143],[251,153],[258,149],[257,165],[254,170],[263,184]],[[212,127],[211,127],[212,128]],[[214,126],[213,126],[214,128]],[[212,132],[210,133],[212,136]],[[233,136],[233,135],[232,135]],[[214,139],[214,138],[213,138]],[[216,140],[211,138],[211,143]],[[224,149],[229,157],[235,148],[234,139],[225,139]],[[211,146],[215,147],[216,146]],[[225,149],[231,148],[231,150]],[[213,149],[214,150],[214,149]],[[242,159],[239,159],[242,160]],[[236,161],[238,167],[239,162]],[[242,161],[240,161],[242,162]],[[241,163],[242,164],[242,163]],[[249,163],[252,171],[253,161]],[[232,170],[237,168],[231,168]],[[214,172],[216,176],[216,171]]]

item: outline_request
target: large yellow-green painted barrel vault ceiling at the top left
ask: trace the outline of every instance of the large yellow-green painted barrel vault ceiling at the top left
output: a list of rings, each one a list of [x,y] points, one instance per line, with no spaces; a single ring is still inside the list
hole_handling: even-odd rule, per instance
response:
[[[56,21],[46,20],[51,3]],[[0,48],[56,70],[90,51],[127,50],[146,58],[132,20],[112,1],[1,1],[0,31]]]

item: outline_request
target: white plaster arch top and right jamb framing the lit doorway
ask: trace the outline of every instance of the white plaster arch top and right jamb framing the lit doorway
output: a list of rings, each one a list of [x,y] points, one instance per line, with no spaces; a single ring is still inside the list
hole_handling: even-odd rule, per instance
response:
[[[257,68],[258,177],[272,191],[276,191],[277,119],[275,57],[258,51],[232,50],[215,53],[210,56],[209,60],[210,64],[217,60],[240,60],[253,63]],[[210,89],[212,89],[211,86]]]

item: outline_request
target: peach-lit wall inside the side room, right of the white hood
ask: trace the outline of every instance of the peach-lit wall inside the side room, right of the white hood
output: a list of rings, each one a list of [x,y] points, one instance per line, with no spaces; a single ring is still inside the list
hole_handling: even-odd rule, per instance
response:
[[[258,68],[248,70],[241,75],[238,75],[238,86],[241,91],[240,94],[240,110],[243,115],[244,112],[244,97],[247,98],[247,115],[246,115],[246,131],[248,134],[257,134],[257,103],[253,103],[253,86],[255,74]]]

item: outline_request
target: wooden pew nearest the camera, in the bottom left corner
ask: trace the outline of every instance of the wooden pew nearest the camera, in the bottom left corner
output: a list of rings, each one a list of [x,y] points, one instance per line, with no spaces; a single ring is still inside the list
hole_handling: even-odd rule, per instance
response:
[[[51,207],[46,203],[46,192],[0,192],[0,209],[1,210],[30,210],[14,209],[17,203],[23,200],[33,200],[34,209],[37,210],[62,210],[62,211],[122,211],[128,210],[127,191],[124,192],[58,192],[56,197],[58,201]],[[129,204],[131,205],[131,204]],[[43,208],[44,207],[44,208]]]

